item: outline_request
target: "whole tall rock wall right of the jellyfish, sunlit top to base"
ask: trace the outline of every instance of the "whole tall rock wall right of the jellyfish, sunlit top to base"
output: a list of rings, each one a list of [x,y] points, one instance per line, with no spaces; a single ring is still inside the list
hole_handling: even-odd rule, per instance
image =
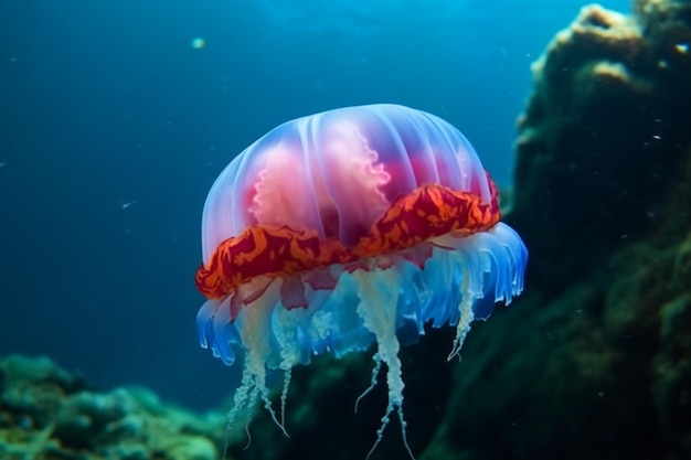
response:
[[[690,46],[689,1],[589,6],[534,64],[525,297],[474,331],[422,459],[691,457]]]

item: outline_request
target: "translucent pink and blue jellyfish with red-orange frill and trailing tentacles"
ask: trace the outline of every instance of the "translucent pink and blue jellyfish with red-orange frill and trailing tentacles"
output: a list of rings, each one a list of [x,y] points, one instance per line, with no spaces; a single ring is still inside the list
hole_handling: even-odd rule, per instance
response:
[[[227,365],[244,357],[228,426],[263,403],[285,432],[295,366],[374,345],[371,382],[384,364],[389,403],[370,453],[395,413],[412,458],[400,347],[448,324],[456,356],[474,320],[522,291],[528,260],[470,142],[390,104],[298,118],[247,147],[211,188],[202,253],[200,344]]]

